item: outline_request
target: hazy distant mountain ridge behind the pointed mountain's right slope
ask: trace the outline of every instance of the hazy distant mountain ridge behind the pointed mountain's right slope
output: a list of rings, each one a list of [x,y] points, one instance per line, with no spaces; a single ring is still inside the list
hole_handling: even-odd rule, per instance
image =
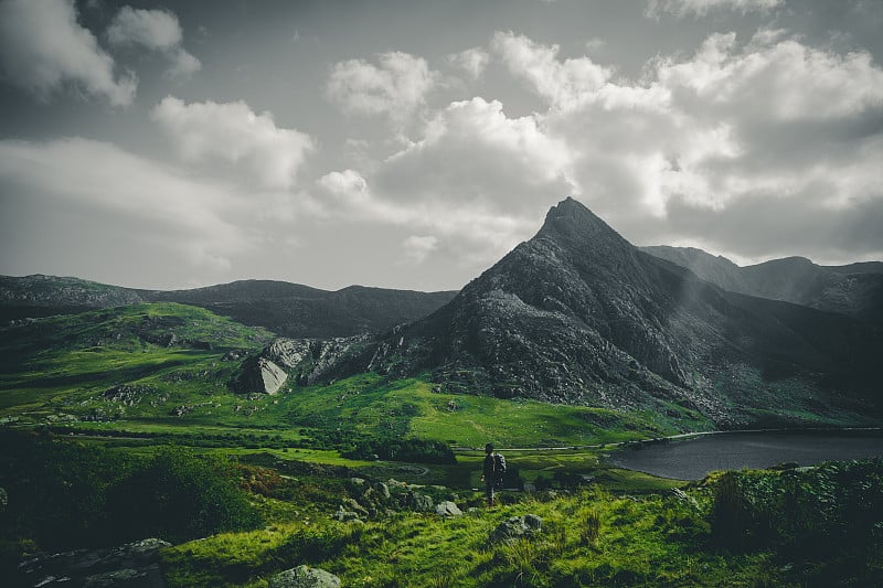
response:
[[[883,319],[883,263],[880,261],[819,266],[804,257],[786,257],[740,267],[725,257],[692,247],[641,249],[689,268],[725,290],[863,319]]]

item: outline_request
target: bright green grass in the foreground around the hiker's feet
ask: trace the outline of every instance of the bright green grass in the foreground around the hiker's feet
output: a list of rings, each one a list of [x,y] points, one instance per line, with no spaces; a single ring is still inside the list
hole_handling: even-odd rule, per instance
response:
[[[597,535],[581,524],[592,512]],[[510,516],[543,518],[533,539],[491,544]],[[382,522],[312,520],[225,534],[163,552],[170,586],[265,586],[301,563],[344,586],[753,586],[768,554],[700,549],[702,513],[671,495],[634,499],[588,490],[551,501],[479,509],[455,520],[402,513]]]

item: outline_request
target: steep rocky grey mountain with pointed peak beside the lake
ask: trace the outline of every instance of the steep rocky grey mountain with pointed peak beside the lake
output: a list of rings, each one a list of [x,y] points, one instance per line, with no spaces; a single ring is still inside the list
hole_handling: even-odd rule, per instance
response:
[[[498,397],[744,426],[879,415],[881,350],[860,320],[723,290],[567,199],[448,304],[345,361]]]

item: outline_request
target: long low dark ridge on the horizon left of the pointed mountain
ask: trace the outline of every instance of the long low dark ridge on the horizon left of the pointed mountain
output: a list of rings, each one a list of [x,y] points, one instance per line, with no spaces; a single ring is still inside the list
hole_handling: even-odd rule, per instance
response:
[[[269,280],[244,280],[192,290],[138,290],[77,278],[0,277],[0,321],[71,314],[141,302],[198,306],[252,327],[295,338],[383,332],[414,321],[456,292],[417,292],[351,286],[320,290]]]

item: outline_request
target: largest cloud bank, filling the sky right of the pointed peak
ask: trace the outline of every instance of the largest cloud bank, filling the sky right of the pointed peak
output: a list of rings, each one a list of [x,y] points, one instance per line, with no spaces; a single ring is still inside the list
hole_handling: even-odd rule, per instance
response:
[[[717,243],[726,248],[715,253],[734,257],[768,247],[843,259],[836,229],[854,226],[845,240],[859,256],[881,249],[859,238],[866,229],[855,215],[879,217],[883,201],[883,71],[868,53],[813,47],[785,31],[744,43],[714,34],[628,81],[591,67],[576,75],[567,63],[582,60],[558,60],[554,45],[511,33],[494,41],[513,75],[546,98],[535,121],[565,146],[568,179],[627,237]],[[749,222],[746,203],[769,211],[751,244],[731,238]],[[797,232],[794,218],[816,216],[806,223],[818,228],[815,240],[779,238]]]

